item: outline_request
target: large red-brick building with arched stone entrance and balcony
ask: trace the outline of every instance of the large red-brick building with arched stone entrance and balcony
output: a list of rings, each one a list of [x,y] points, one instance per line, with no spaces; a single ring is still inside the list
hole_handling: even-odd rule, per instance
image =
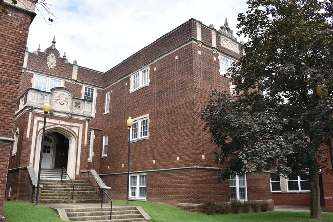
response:
[[[217,30],[190,19],[105,73],[61,57],[55,38],[44,51],[26,51],[6,195],[33,200],[27,184],[38,173],[47,100],[42,168],[65,167],[76,180],[96,170],[110,196],[125,199],[131,116],[130,199],[201,212],[206,201],[238,198],[272,209],[269,172],[218,183],[218,148],[197,117],[211,86],[231,90],[223,74],[243,55],[241,46],[227,21]]]

